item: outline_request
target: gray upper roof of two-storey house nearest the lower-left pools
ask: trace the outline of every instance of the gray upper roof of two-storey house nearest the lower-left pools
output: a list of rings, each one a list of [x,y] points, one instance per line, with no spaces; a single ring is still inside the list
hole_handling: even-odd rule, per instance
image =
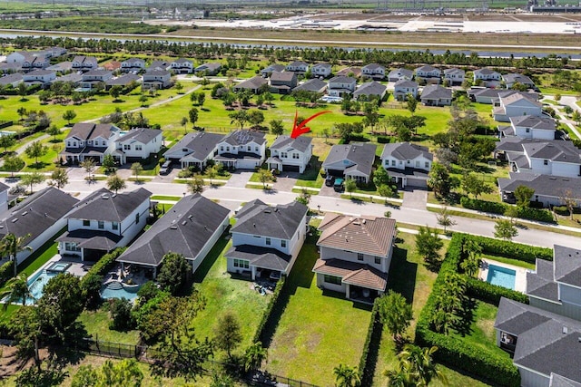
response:
[[[99,189],[74,206],[74,210],[66,218],[121,223],[143,201],[149,200],[150,196],[152,193],[147,189],[136,189],[116,195],[109,189]]]

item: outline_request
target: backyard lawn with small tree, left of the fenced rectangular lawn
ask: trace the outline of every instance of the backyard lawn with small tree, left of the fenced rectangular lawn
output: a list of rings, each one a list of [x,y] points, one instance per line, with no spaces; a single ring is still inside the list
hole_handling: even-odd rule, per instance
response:
[[[251,281],[232,278],[226,272],[224,254],[230,247],[231,241],[221,237],[196,270],[193,286],[205,297],[206,307],[192,321],[192,327],[199,340],[204,337],[212,339],[222,315],[226,312],[235,314],[241,326],[242,340],[234,353],[242,353],[251,344],[271,295],[260,295]]]

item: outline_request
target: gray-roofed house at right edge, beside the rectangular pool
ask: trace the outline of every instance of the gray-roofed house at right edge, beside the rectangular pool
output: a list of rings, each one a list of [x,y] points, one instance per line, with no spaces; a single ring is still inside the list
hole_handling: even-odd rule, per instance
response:
[[[581,320],[581,250],[555,245],[552,262],[537,258],[527,295],[532,306]]]

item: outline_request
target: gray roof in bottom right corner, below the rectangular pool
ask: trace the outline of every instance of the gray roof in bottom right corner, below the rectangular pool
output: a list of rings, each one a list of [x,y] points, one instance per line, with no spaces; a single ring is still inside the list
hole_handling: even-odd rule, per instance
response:
[[[495,328],[517,335],[513,362],[547,377],[581,382],[581,323],[501,298]]]

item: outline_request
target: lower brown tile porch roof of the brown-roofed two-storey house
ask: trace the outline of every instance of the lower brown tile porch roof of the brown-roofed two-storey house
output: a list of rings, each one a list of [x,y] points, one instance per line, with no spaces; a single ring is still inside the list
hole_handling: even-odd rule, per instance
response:
[[[369,265],[341,259],[317,259],[312,271],[328,276],[340,276],[345,284],[383,291],[388,284],[388,274]]]

